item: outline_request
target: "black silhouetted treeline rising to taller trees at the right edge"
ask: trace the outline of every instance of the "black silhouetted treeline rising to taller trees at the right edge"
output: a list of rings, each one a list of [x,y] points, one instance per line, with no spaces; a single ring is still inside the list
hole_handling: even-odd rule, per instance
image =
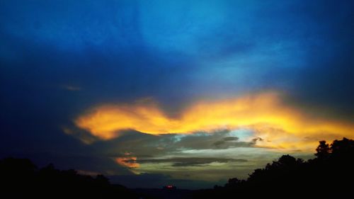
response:
[[[283,155],[246,180],[195,191],[194,198],[354,198],[354,140],[319,142],[316,158]]]

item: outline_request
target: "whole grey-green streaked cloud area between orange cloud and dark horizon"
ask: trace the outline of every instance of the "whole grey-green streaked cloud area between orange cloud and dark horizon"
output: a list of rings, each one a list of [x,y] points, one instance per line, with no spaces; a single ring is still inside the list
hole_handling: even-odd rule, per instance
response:
[[[226,139],[236,140],[229,142],[240,143],[239,145],[235,143],[233,146],[219,148],[213,145],[217,140],[224,140],[224,137],[240,137],[239,140],[236,140],[236,138]],[[244,135],[243,130],[159,136],[127,131],[116,139],[97,140],[84,146],[97,155],[109,157],[113,164],[129,170],[135,175],[145,173],[168,174],[173,180],[188,178],[192,181],[198,178],[201,181],[215,182],[220,179],[227,179],[230,174],[243,178],[252,169],[263,166],[266,162],[258,162],[260,153],[263,153],[262,157],[264,159],[273,159],[273,156],[268,154],[273,152],[267,152],[268,149],[257,148],[251,143],[253,138],[249,132]],[[192,150],[196,153],[190,152]],[[202,152],[202,150],[209,151]],[[257,151],[257,154],[254,151]],[[198,152],[201,153],[197,154]],[[119,163],[117,158],[119,158]],[[134,164],[139,164],[139,167],[132,166]],[[135,176],[132,176],[132,178],[135,178]]]

